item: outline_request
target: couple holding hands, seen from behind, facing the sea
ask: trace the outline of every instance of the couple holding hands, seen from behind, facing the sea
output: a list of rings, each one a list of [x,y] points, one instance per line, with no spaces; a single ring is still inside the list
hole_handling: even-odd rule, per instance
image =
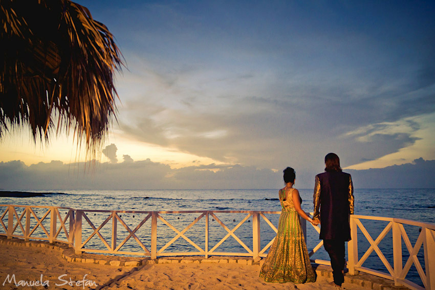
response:
[[[293,188],[295,177],[293,168],[284,170],[286,186],[279,190],[278,232],[259,276],[266,282],[315,282],[301,216],[313,225],[321,224],[320,239],[331,258],[333,284],[340,287],[344,281],[344,242],[351,239],[349,218],[354,213],[352,177],[341,171],[337,154],[325,156],[325,172],[316,175],[313,218],[300,207],[302,199]]]

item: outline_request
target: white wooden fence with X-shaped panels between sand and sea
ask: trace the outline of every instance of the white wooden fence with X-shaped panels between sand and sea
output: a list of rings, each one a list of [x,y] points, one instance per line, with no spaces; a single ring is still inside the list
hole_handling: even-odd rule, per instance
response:
[[[103,253],[103,254],[127,254],[127,255],[141,255],[149,256],[151,259],[156,259],[158,256],[192,256],[192,255],[203,255],[208,258],[210,255],[215,256],[246,256],[246,257],[266,257],[267,250],[270,248],[274,241],[274,237],[266,244],[265,247],[261,247],[261,236],[260,236],[260,225],[268,225],[275,233],[277,229],[273,222],[266,216],[267,214],[278,215],[279,211],[110,211],[110,210],[80,210],[72,209],[66,207],[42,207],[42,206],[18,206],[18,205],[0,205],[0,213],[2,208],[3,213],[0,215],[0,235],[7,236],[8,238],[16,237],[23,238],[25,240],[36,239],[36,240],[47,240],[49,242],[63,242],[69,244],[71,248],[74,248],[75,253],[79,254],[82,252],[92,252],[92,253]],[[18,211],[17,211],[18,209]],[[36,214],[36,211],[42,212],[42,217],[40,214]],[[60,214],[60,211],[64,211],[64,217]],[[100,220],[103,220],[100,225],[94,225],[89,215],[99,214]],[[135,227],[129,226],[126,220],[121,216],[121,214],[134,214],[138,215],[135,219]],[[173,226],[164,215],[186,215],[193,214],[196,216],[193,221],[187,226],[184,226],[182,230],[177,229]],[[227,214],[240,214],[243,218],[237,220],[236,226],[228,227],[228,222],[225,222],[219,216]],[[102,217],[101,217],[102,215]],[[139,217],[140,216],[140,217]],[[7,223],[5,219],[7,218]],[[180,217],[178,217],[180,218]],[[214,245],[209,244],[211,241],[210,235],[210,220],[216,221],[221,228],[225,229],[225,236],[223,236],[219,242]],[[203,243],[192,241],[187,237],[186,232],[191,229],[195,224],[198,224],[200,220],[205,220],[203,222],[203,233],[204,239]],[[235,233],[245,222],[250,222],[252,220],[252,246],[247,246],[246,239],[245,242],[242,238],[238,237]],[[261,222],[261,221],[264,222]],[[367,231],[366,227],[363,225],[363,220],[371,221],[383,221],[388,222],[383,231],[374,239],[371,234]],[[170,229],[172,234],[175,232],[175,236],[166,242],[163,246],[158,248],[158,240],[162,240],[167,236],[162,234],[159,235],[158,231],[158,221],[161,222],[161,226],[165,225],[165,229]],[[236,222],[236,220],[233,220]],[[104,237],[100,230],[111,222],[111,228],[108,231],[111,233],[110,238]],[[118,225],[119,224],[119,225]],[[144,224],[150,226],[150,232],[148,236],[137,235],[138,231],[142,228]],[[215,225],[215,224],[214,224]],[[311,224],[310,224],[311,225]],[[351,235],[352,240],[347,243],[348,259],[347,268],[349,269],[350,275],[356,275],[358,271],[372,274],[375,276],[383,277],[385,279],[393,280],[396,285],[405,285],[411,289],[431,289],[435,290],[435,225],[426,224],[418,221],[411,221],[399,218],[388,218],[388,217],[375,217],[375,216],[362,216],[362,215],[351,215],[350,219],[351,225]],[[408,234],[405,230],[404,225],[418,227],[420,228],[420,233],[417,237],[416,242],[412,245]],[[83,231],[83,227],[90,227],[89,230]],[[118,227],[122,227],[128,233],[128,235],[118,243]],[[305,219],[301,219],[301,226],[304,235],[307,240],[307,228]],[[36,230],[39,227],[39,234],[36,234]],[[48,229],[47,229],[48,228]],[[317,232],[320,228],[314,227]],[[214,229],[214,228],[213,228]],[[359,231],[362,233],[358,234]],[[2,232],[4,231],[4,232]],[[393,250],[393,265],[390,264],[387,258],[385,258],[384,253],[382,253],[379,243],[386,239],[387,234],[392,231],[392,245],[393,249],[389,249],[389,252]],[[21,232],[21,233],[19,233]],[[83,236],[84,233],[90,233],[88,236]],[[213,230],[214,232],[214,230]],[[65,238],[59,238],[60,234],[63,234]],[[99,240],[104,245],[104,249],[93,248],[89,245],[89,241],[97,236]],[[198,235],[197,235],[198,236]],[[233,237],[234,240],[240,244],[245,252],[219,252],[217,249],[227,240],[229,237]],[[188,242],[195,251],[181,251],[181,252],[168,252],[167,249],[179,238],[183,238]],[[126,247],[126,242],[129,239],[134,239],[136,241],[135,247],[139,247],[140,251],[123,251],[122,248]],[[144,239],[149,241],[149,246],[145,246]],[[362,253],[358,249],[358,240],[363,239],[369,243],[369,248]],[[265,242],[265,241],[263,241]],[[402,243],[405,244],[406,250],[409,256],[403,254]],[[309,249],[310,257],[312,257],[321,247],[323,241],[320,241],[316,246]],[[86,247],[88,245],[88,247]],[[424,248],[424,268],[422,267],[418,254],[421,247]],[[129,246],[130,248],[132,246]],[[387,272],[382,272],[379,270],[370,269],[369,267],[364,267],[363,264],[371,254],[375,252],[380,258],[381,262],[385,266]],[[406,259],[403,265],[404,258]],[[330,265],[330,261],[314,259],[312,262],[324,265]],[[410,270],[411,265],[414,264],[418,275],[421,279],[421,284],[411,282],[406,279],[407,274]]]

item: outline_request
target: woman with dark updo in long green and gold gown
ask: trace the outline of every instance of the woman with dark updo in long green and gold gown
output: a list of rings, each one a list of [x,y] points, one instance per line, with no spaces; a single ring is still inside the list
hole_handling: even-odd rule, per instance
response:
[[[260,277],[266,282],[315,282],[299,215],[313,225],[318,225],[319,221],[311,219],[300,208],[302,199],[299,191],[293,188],[295,177],[293,168],[287,167],[284,170],[286,186],[279,190],[281,215],[278,233],[260,271]]]

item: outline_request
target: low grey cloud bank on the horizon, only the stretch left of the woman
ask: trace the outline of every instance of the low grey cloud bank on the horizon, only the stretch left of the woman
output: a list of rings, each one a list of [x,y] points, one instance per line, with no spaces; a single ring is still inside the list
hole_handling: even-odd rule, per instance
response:
[[[2,162],[0,184],[6,190],[232,189],[273,188],[281,178],[271,170],[241,165],[171,169],[169,165],[149,159],[125,160],[128,162],[95,161],[93,165],[52,161],[26,166],[20,161]]]

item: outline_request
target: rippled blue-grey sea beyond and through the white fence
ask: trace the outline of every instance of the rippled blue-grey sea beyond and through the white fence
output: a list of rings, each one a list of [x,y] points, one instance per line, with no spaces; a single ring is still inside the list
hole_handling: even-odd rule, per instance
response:
[[[313,190],[299,190],[303,199],[302,209],[306,212],[313,211]],[[44,192],[44,191],[35,191]],[[124,191],[108,191],[108,190],[47,190],[45,192],[58,192],[63,194],[50,194],[40,197],[0,197],[0,204],[14,205],[33,205],[33,206],[62,206],[72,207],[75,209],[104,209],[104,210],[137,210],[137,211],[160,211],[160,210],[263,210],[263,211],[280,211],[280,205],[277,189],[267,190],[124,190]],[[356,189],[355,190],[355,214],[398,217],[421,222],[435,224],[435,189]],[[5,208],[0,208],[0,215],[3,214]],[[20,211],[18,210],[20,215]],[[40,210],[37,215],[42,217],[45,214]],[[93,224],[98,227],[104,219],[107,218],[106,213],[88,213],[88,217]],[[130,229],[134,229],[139,222],[145,217],[141,214],[122,213],[122,219],[126,222]],[[65,212],[61,213],[65,216]],[[190,224],[199,214],[166,214],[163,217],[170,222],[178,230],[184,229]],[[240,222],[246,214],[217,214],[224,224],[232,229]],[[277,227],[278,215],[266,215],[273,224]],[[180,217],[180,219],[178,219]],[[4,218],[4,221],[7,217]],[[249,221],[249,222],[248,222]],[[242,239],[247,247],[252,247],[252,225],[249,219],[241,228],[235,231],[235,234]],[[34,221],[32,221],[35,223]],[[6,223],[7,224],[7,223]],[[44,224],[44,222],[43,222]],[[90,226],[86,226],[86,221],[83,219],[83,240],[89,236],[93,230]],[[261,237],[262,248],[267,242],[274,237],[275,233],[261,219]],[[367,229],[369,234],[375,240],[382,232],[388,222],[362,220],[362,224]],[[199,247],[204,248],[204,225],[205,219],[201,219],[196,225],[186,232],[186,236]],[[49,225],[44,226],[49,229]],[[223,229],[216,221],[210,217],[210,234],[209,234],[209,249],[211,249],[222,237],[226,235]],[[108,222],[100,233],[111,243],[112,221]],[[117,244],[121,243],[128,232],[118,223],[117,227]],[[414,244],[419,235],[419,228],[405,226],[411,243]],[[4,232],[3,228],[0,231]],[[35,234],[41,231],[38,229]],[[18,230],[19,232],[19,230]],[[41,232],[42,233],[42,232]],[[141,239],[144,245],[150,249],[150,220],[142,226],[137,232],[137,236]],[[171,229],[159,220],[158,222],[158,250],[161,249],[169,240],[176,235]],[[61,236],[61,235],[59,235]],[[319,242],[318,233],[307,225],[307,246],[313,249]],[[106,249],[101,240],[95,235],[86,246],[93,248]],[[368,249],[368,242],[363,234],[358,232],[358,249],[359,257]],[[385,255],[386,259],[393,265],[392,251],[392,233],[391,231],[379,244],[379,248]],[[123,251],[141,252],[143,251],[138,243],[130,238],[122,247]],[[166,252],[177,251],[197,251],[183,238],[179,238],[175,243],[169,246]],[[246,252],[240,244],[232,237],[229,237],[216,251],[219,252]],[[403,264],[406,262],[409,254],[406,246],[403,243]],[[314,259],[329,260],[328,254],[321,248],[312,257]],[[419,252],[420,263],[424,269],[424,253],[423,247]],[[363,266],[376,269],[387,273],[386,267],[383,265],[379,257],[372,253],[371,256],[364,262]],[[418,282],[418,274],[414,265],[407,278]],[[421,283],[419,283],[421,284]]]

